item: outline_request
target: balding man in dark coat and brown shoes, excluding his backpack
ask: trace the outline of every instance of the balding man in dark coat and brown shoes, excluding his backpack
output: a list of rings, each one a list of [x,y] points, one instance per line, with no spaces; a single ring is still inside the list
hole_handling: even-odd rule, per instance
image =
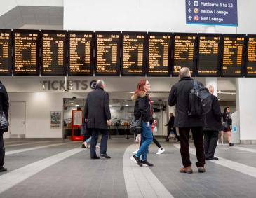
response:
[[[198,162],[198,172],[205,172],[205,156],[203,150],[203,119],[193,115],[188,115],[189,111],[189,92],[194,87],[194,81],[191,78],[190,71],[183,67],[179,71],[180,81],[173,85],[168,97],[169,106],[176,105],[174,127],[179,127],[180,132],[180,153],[182,155],[182,164],[180,172],[191,174],[191,162],[189,156],[189,131],[193,134],[196,147],[196,157]],[[202,83],[198,82],[198,85]]]

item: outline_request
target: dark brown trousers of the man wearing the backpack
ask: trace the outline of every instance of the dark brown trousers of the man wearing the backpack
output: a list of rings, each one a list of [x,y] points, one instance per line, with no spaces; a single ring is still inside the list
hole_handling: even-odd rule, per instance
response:
[[[203,167],[205,162],[203,150],[203,127],[182,127],[180,132],[180,154],[182,155],[182,164],[184,167],[191,166],[189,155],[189,131],[191,129],[194,144],[196,147],[196,167]]]

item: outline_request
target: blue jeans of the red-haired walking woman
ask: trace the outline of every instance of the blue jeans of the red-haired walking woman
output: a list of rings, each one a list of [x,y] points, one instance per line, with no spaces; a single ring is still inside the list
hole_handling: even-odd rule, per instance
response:
[[[147,160],[147,151],[149,150],[149,145],[153,141],[153,134],[151,132],[151,125],[147,126],[147,123],[142,122],[142,145],[140,149],[135,154],[136,157],[142,156],[142,160]]]

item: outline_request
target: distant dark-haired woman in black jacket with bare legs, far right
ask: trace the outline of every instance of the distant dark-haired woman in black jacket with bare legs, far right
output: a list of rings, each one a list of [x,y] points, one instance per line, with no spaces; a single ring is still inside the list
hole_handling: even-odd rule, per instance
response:
[[[234,143],[231,143],[231,130],[232,130],[232,118],[230,113],[230,108],[227,106],[224,108],[224,112],[222,114],[223,121],[223,132],[227,136],[227,141],[229,142],[229,146],[234,146]]]

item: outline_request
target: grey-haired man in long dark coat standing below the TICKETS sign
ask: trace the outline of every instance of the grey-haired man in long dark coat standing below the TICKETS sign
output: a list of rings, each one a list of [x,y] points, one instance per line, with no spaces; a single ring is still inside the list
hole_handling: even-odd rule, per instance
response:
[[[100,159],[96,155],[96,144],[99,134],[102,134],[100,143],[100,156],[110,158],[107,155],[107,125],[111,125],[111,114],[109,110],[109,94],[104,91],[105,83],[103,80],[97,80],[95,90],[88,94],[86,106],[84,107],[84,118],[87,122],[87,128],[92,134],[90,141],[90,158]]]

